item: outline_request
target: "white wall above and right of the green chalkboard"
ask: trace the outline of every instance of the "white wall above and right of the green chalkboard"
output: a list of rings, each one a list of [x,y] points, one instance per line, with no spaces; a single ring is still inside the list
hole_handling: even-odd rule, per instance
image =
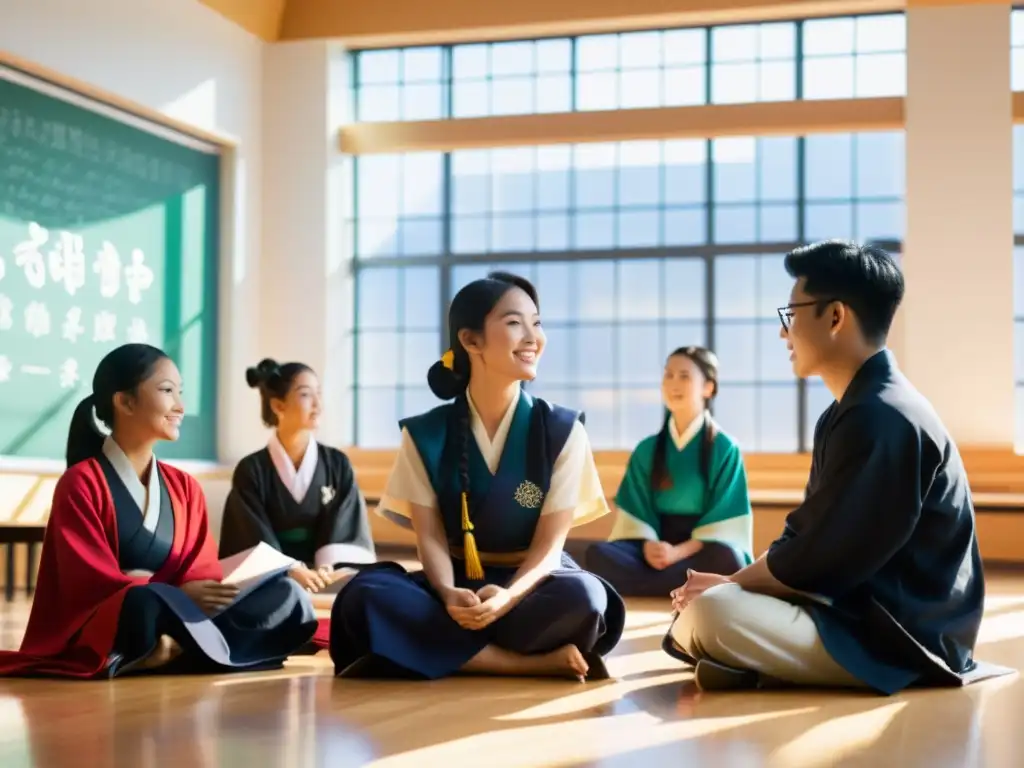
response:
[[[244,371],[260,356],[263,43],[196,0],[3,0],[0,51],[230,138],[220,270],[218,452],[264,439]],[[231,183],[233,177],[234,183]]]

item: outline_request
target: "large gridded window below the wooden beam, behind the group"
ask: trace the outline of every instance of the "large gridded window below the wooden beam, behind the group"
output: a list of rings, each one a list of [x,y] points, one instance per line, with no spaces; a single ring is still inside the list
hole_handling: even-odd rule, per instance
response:
[[[443,312],[501,267],[538,285],[542,396],[585,410],[598,449],[658,424],[665,355],[712,346],[717,418],[748,451],[810,445],[828,398],[778,339],[782,255],[822,238],[903,236],[902,132],[631,141],[356,161],[355,439],[397,444],[437,404]]]

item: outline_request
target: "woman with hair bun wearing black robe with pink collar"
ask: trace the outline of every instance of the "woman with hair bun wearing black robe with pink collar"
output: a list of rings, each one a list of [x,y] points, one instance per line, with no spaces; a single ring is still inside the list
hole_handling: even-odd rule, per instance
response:
[[[316,441],[321,387],[302,362],[264,359],[246,371],[260,393],[266,447],[234,468],[220,527],[220,556],[268,544],[296,561],[304,589],[332,592],[376,560],[367,505],[348,457]]]

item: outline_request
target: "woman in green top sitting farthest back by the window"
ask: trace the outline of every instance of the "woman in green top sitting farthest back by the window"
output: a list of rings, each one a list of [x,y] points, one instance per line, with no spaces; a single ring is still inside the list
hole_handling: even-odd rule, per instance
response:
[[[611,541],[587,551],[587,567],[624,595],[668,597],[691,568],[729,575],[754,561],[743,460],[708,412],[717,393],[714,352],[669,355],[662,430],[630,457]]]

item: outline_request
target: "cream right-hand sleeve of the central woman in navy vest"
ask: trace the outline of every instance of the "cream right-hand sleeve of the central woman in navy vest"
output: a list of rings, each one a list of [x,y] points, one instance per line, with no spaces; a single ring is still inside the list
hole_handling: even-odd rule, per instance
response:
[[[541,508],[542,515],[572,510],[572,525],[583,525],[610,511],[597,473],[590,438],[580,421],[555,460],[551,472],[551,486]]]

